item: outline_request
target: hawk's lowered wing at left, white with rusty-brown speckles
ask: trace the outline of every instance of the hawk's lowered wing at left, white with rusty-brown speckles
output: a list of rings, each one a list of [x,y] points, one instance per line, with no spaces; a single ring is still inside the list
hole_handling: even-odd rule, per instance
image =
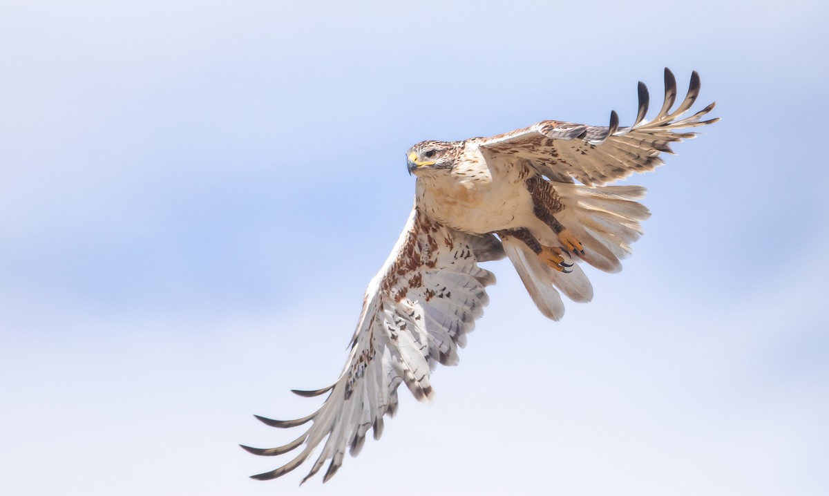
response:
[[[458,363],[458,347],[474,327],[488,298],[485,287],[495,276],[478,262],[504,256],[495,236],[472,236],[442,226],[415,205],[400,239],[381,271],[371,280],[359,323],[351,338],[351,353],[342,375],[318,391],[293,391],[326,401],[309,416],[274,421],[274,427],[293,427],[313,421],[297,439],[278,448],[242,446],[255,455],[281,455],[305,445],[287,464],[255,479],[274,479],[303,464],[326,440],[316,463],[303,482],[326,460],[323,482],[337,472],[349,449],[356,456],[371,428],[379,439],[383,416],[397,408],[397,387],[406,387],[419,400],[433,396],[429,372],[436,363]]]

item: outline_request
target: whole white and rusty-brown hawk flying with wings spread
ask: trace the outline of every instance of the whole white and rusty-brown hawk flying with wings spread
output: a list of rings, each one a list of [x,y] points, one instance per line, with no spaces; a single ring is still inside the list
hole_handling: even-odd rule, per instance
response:
[[[492,138],[424,141],[406,153],[417,177],[414,207],[394,249],[371,280],[351,338],[342,374],[329,387],[293,391],[327,393],[322,406],[292,421],[257,416],[274,427],[312,425],[287,445],[255,455],[283,455],[303,449],[288,463],[254,479],[274,479],[296,469],[322,445],[303,482],[327,460],[323,482],[337,472],[349,450],[357,455],[368,430],[375,439],[383,417],[397,409],[401,383],[418,400],[433,396],[430,372],[438,363],[458,363],[487,304],[486,287],[495,275],[478,264],[507,256],[542,314],[564,314],[560,293],[585,302],[593,287],[579,264],[605,272],[621,270],[619,260],[642,234],[650,215],[638,202],[640,186],[605,186],[662,164],[670,143],[690,139],[687,129],[715,104],[681,119],[696,101],[700,78],[691,75],[687,95],[676,109],[676,79],[665,70],[665,102],[647,120],[647,87],[638,86],[633,125],[619,127],[545,120]]]

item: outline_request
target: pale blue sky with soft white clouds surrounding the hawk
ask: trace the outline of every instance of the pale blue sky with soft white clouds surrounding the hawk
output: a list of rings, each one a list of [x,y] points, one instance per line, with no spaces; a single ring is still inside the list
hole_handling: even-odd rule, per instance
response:
[[[826,2],[2,2],[4,494],[829,493]],[[721,122],[554,323],[507,261],[437,397],[327,484],[250,474],[336,379],[412,202],[405,150]],[[701,108],[699,105],[697,108]],[[655,109],[654,109],[655,111]],[[287,460],[285,460],[287,461]]]

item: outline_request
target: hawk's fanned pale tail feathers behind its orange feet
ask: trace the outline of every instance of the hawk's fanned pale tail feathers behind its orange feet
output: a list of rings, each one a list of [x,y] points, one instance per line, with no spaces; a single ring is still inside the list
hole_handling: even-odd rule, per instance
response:
[[[584,246],[584,255],[580,259],[570,256],[569,261],[584,260],[610,273],[622,270],[619,260],[631,254],[631,243],[642,236],[639,222],[651,215],[647,207],[636,202],[645,196],[645,188],[556,183],[555,191],[565,207],[555,214],[556,219]],[[519,240],[507,237],[503,247],[532,301],[547,318],[559,320],[565,314],[559,291],[576,302],[593,299],[593,285],[579,265],[574,264],[570,273],[562,273],[542,262]]]

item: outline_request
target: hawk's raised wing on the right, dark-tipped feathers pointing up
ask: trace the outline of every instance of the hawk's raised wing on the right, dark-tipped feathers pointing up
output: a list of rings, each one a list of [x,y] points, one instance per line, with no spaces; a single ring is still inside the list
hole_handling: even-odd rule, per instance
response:
[[[676,78],[665,69],[665,103],[651,120],[647,114],[647,86],[639,82],[639,111],[629,128],[618,127],[618,115],[610,113],[609,126],[587,126],[555,120],[544,120],[528,128],[516,129],[482,139],[485,153],[509,154],[526,158],[539,173],[554,181],[573,182],[575,178],[589,186],[643,173],[662,164],[660,152],[673,153],[669,143],[693,138],[696,133],[676,132],[678,129],[713,124],[718,119],[700,120],[715,104],[696,114],[679,119],[700,94],[700,76],[693,72],[685,100],[671,112],[676,100]],[[572,178],[571,178],[572,177]]]

